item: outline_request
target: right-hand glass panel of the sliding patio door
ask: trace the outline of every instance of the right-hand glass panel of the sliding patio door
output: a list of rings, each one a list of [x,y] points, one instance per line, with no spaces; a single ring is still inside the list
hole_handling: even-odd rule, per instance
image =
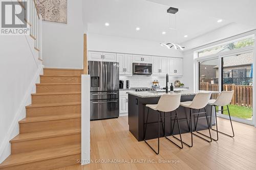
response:
[[[230,55],[221,57],[221,60],[222,90],[234,91],[229,105],[230,115],[236,119],[252,121],[253,53]],[[228,112],[223,111],[222,114],[227,115]]]

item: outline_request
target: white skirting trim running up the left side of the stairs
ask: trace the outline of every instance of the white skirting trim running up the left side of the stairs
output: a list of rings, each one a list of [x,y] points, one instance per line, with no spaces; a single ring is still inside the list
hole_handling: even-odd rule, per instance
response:
[[[10,150],[10,140],[14,137],[13,133],[16,131],[16,133],[18,134],[18,130],[16,127],[18,127],[18,121],[20,120],[20,116],[22,115],[23,110],[25,109],[27,102],[29,100],[29,98],[31,98],[31,92],[33,91],[35,84],[37,83],[37,79],[39,78],[40,72],[42,71],[42,69],[44,68],[44,65],[39,65],[38,69],[34,75],[34,78],[32,79],[32,81],[30,82],[30,85],[25,93],[25,96],[23,98],[23,102],[20,104],[18,111],[16,112],[13,121],[11,123],[11,126],[7,132],[7,135],[5,136],[4,140],[2,141],[2,143],[0,143],[0,163],[2,163],[10,154],[11,154],[11,150]],[[16,128],[16,129],[15,129]],[[17,135],[16,134],[16,135]],[[9,151],[8,151],[9,148]],[[9,152],[9,155],[7,154],[7,152]],[[6,154],[4,154],[6,153]]]

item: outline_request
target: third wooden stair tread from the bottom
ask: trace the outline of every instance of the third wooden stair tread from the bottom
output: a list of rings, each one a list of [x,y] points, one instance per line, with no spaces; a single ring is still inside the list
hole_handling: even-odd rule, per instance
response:
[[[49,120],[61,120],[61,119],[70,119],[70,118],[80,118],[81,114],[63,114],[63,115],[50,115],[50,116],[33,116],[26,117],[19,121],[20,124],[23,123],[32,123],[32,122],[44,122]]]

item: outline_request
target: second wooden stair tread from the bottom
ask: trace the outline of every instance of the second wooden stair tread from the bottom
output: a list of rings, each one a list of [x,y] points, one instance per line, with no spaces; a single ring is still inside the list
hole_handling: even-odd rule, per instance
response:
[[[14,137],[12,140],[10,140],[10,142],[13,143],[13,142],[20,142],[20,141],[28,141],[28,140],[34,140],[34,139],[57,137],[57,136],[64,136],[64,135],[77,134],[77,133],[81,133],[81,129],[74,128],[74,129],[68,129],[68,130],[51,130],[51,131],[20,133],[16,137]]]

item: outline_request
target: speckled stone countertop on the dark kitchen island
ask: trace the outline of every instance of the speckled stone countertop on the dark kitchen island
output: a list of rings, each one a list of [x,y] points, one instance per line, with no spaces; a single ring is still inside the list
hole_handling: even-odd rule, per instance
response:
[[[181,95],[196,95],[199,92],[211,92],[211,93],[219,93],[218,91],[204,91],[204,90],[183,90],[180,92],[168,92],[168,94],[181,94]],[[165,91],[128,91],[128,94],[132,94],[138,96],[140,98],[157,98],[166,94]]]

